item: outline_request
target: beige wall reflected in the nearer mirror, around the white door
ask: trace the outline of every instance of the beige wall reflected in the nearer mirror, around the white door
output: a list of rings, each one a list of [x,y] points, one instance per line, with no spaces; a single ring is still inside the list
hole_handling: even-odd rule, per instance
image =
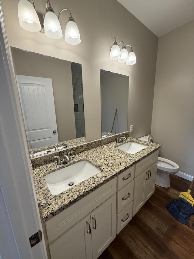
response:
[[[16,74],[52,79],[59,142],[76,138],[71,63],[21,49],[12,53]]]

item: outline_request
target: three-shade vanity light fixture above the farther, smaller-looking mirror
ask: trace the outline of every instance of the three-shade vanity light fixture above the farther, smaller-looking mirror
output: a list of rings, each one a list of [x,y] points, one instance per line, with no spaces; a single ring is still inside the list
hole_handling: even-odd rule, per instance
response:
[[[123,43],[122,49],[120,49],[119,44]],[[123,41],[120,41],[119,44],[116,42],[114,37],[113,45],[110,50],[110,60],[118,60],[119,63],[125,63],[126,65],[134,65],[136,63],[136,56],[130,45],[125,45]],[[126,46],[129,46],[131,50],[127,51]]]

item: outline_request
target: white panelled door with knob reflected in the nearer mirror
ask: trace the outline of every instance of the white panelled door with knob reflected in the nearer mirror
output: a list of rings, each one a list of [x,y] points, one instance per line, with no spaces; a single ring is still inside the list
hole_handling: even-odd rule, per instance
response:
[[[16,75],[16,80],[29,148],[59,142],[52,79]]]

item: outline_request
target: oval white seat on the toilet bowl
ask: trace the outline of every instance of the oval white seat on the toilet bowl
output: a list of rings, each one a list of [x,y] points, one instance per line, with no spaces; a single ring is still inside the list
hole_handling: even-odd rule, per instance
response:
[[[169,159],[158,157],[157,169],[175,174],[179,172],[179,165]]]

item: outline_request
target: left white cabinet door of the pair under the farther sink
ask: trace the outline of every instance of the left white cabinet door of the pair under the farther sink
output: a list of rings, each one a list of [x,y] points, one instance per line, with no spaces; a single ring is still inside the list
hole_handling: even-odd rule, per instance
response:
[[[133,195],[133,216],[144,204],[144,187],[146,181],[146,172],[142,172],[134,178],[134,195]]]

